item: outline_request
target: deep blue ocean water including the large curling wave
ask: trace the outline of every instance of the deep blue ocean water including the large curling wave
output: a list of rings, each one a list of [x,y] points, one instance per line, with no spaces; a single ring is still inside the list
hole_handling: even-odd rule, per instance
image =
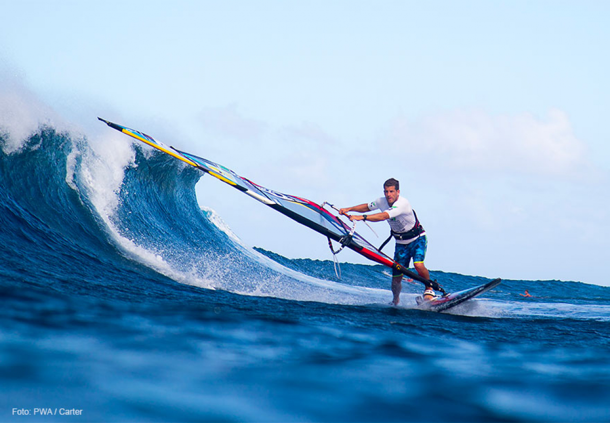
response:
[[[2,137],[0,421],[610,421],[609,287],[394,308],[382,266],[244,247],[171,157]]]

